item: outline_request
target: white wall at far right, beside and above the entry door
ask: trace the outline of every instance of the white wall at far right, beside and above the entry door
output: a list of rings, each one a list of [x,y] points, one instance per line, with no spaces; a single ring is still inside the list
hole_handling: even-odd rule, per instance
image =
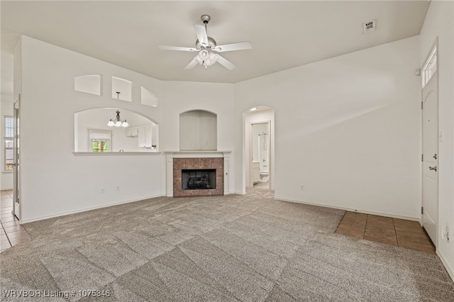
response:
[[[421,29],[419,65],[438,37],[438,247],[437,254],[454,280],[454,3],[431,1]],[[450,241],[441,228],[450,227]]]

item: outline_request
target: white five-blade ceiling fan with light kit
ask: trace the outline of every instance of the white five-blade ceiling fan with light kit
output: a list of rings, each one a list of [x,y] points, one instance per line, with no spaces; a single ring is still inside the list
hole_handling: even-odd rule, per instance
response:
[[[249,41],[245,42],[238,42],[226,45],[216,45],[216,41],[214,38],[211,38],[206,33],[206,24],[210,21],[210,16],[202,15],[201,21],[204,22],[205,26],[194,24],[194,30],[196,31],[196,47],[179,47],[179,46],[166,46],[166,45],[159,45],[158,48],[161,50],[179,50],[179,51],[191,51],[191,52],[199,52],[194,59],[185,67],[184,69],[192,69],[197,64],[200,64],[205,67],[213,65],[214,63],[218,62],[219,64],[223,65],[227,69],[235,68],[233,63],[229,62],[225,58],[218,55],[216,52],[227,52],[233,50],[248,50],[253,47]]]

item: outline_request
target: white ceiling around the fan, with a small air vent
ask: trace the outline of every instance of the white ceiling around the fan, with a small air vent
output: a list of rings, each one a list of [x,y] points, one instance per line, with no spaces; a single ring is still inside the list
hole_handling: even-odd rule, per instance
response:
[[[1,49],[19,35],[65,47],[162,80],[236,83],[419,35],[429,1],[0,1]],[[209,14],[218,45],[250,40],[252,50],[223,52],[236,65],[184,67],[194,52],[192,24]],[[363,34],[362,23],[377,20]]]

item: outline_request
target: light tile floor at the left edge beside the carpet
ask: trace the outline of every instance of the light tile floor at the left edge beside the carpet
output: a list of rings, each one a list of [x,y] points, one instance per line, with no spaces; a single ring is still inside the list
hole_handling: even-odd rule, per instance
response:
[[[19,224],[19,220],[11,211],[13,211],[13,190],[1,191],[0,252],[30,238],[26,229]]]

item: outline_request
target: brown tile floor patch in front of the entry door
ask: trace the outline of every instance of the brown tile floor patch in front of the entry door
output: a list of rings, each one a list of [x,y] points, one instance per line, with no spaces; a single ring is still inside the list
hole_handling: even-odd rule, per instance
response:
[[[435,247],[419,222],[345,212],[336,234],[435,254]]]

